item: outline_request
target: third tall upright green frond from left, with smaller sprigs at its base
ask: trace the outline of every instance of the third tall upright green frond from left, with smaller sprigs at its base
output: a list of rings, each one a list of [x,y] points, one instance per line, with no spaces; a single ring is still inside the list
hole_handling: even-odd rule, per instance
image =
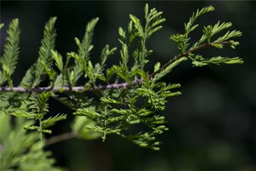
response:
[[[78,52],[67,53],[68,58],[75,59],[75,65],[69,68],[68,76],[70,87],[74,87],[77,80],[81,77],[82,73],[84,73],[85,78],[89,78],[89,81],[84,84],[84,90],[91,87],[93,85],[96,86],[95,81],[97,79],[108,82],[110,78],[105,78],[103,74],[103,69],[105,67],[106,59],[112,55],[117,48],[109,48],[109,45],[106,45],[101,52],[100,62],[96,63],[93,66],[90,59],[90,52],[93,49],[92,45],[92,37],[94,28],[98,22],[99,18],[92,19],[87,27],[86,33],[83,36],[82,41],[80,41],[77,37],[75,37],[76,45],[78,47]],[[65,72],[64,72],[65,73]],[[63,75],[63,73],[62,73]]]

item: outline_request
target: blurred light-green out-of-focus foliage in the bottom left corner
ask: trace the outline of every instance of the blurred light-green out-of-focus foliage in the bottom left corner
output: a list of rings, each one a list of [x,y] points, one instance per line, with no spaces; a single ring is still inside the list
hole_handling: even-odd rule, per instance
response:
[[[0,113],[0,170],[62,170],[53,166],[55,160],[50,158],[51,152],[44,151],[45,140],[39,140],[39,133],[22,129],[33,124],[32,120],[16,117],[12,125],[11,115]]]

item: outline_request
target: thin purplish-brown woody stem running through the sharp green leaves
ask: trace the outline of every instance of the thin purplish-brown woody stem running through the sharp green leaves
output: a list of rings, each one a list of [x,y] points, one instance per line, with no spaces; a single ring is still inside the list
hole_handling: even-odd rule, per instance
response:
[[[227,45],[229,44],[229,41],[219,41],[219,42],[215,42],[215,44],[222,44],[222,45]],[[153,78],[156,74],[160,73],[162,70],[164,70],[166,67],[168,67],[169,65],[171,65],[172,63],[174,63],[175,61],[179,60],[180,58],[182,58],[183,56],[187,56],[189,53],[195,52],[199,49],[202,49],[204,47],[210,46],[211,43],[205,43],[202,44],[196,48],[193,49],[189,49],[188,51],[186,51],[183,54],[179,54],[178,56],[176,56],[175,58],[171,59],[169,62],[165,63],[165,65],[163,65],[159,70],[153,72],[149,78]],[[128,83],[128,82],[124,82],[124,83],[113,83],[113,84],[108,84],[105,86],[96,86],[96,87],[91,87],[90,89],[88,89],[87,91],[95,91],[95,90],[106,90],[106,89],[119,89],[119,88],[124,88],[124,87],[130,87],[136,84],[139,84],[143,81],[143,79],[137,79],[134,80],[132,83]],[[61,92],[62,90],[63,92],[76,92],[76,91],[84,91],[84,87],[83,86],[77,86],[77,87],[41,87],[41,88],[29,88],[29,89],[25,89],[23,87],[0,87],[0,92],[22,92],[22,93],[41,93],[44,91],[54,91],[54,92]]]

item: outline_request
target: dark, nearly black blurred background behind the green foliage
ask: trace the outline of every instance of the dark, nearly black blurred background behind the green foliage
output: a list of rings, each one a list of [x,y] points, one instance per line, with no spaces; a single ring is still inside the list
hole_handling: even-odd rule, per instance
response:
[[[69,170],[148,170],[196,171],[256,170],[256,1],[254,0],[13,0],[0,2],[0,51],[6,39],[7,26],[12,18],[19,18],[20,56],[13,75],[17,85],[27,69],[38,57],[42,30],[50,16],[57,16],[56,49],[63,56],[76,51],[74,37],[82,38],[86,25],[94,17],[100,20],[94,32],[92,61],[99,60],[105,44],[118,47],[118,28],[127,28],[129,14],[143,20],[144,5],[163,11],[163,29],[152,36],[148,49],[146,70],[152,72],[157,61],[162,64],[179,54],[169,36],[184,32],[193,11],[213,5],[216,10],[200,17],[191,42],[202,35],[202,25],[232,22],[233,29],[241,30],[240,46],[233,50],[206,48],[199,53],[205,57],[216,55],[244,58],[243,65],[192,67],[186,61],[176,67],[162,81],[181,83],[180,96],[169,98],[162,112],[168,120],[169,131],[157,137],[163,141],[159,152],[136,146],[118,136],[86,141],[71,139],[47,147],[53,152],[58,166]],[[222,32],[221,34],[225,34]],[[108,60],[108,67],[118,63],[119,50]],[[47,86],[43,82],[42,86]],[[53,135],[70,132],[72,111],[55,100],[50,100],[52,114],[66,113],[68,119],[53,126]],[[138,128],[139,129],[139,128]]]

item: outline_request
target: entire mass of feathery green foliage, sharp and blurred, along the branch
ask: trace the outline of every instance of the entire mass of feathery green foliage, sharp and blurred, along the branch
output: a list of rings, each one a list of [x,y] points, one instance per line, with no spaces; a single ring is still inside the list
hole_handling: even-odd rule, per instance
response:
[[[0,59],[2,66],[0,84],[8,81],[11,87],[0,89],[0,144],[4,146],[4,150],[1,149],[1,156],[5,156],[1,157],[1,168],[4,170],[14,170],[13,167],[18,170],[59,170],[52,167],[54,160],[47,158],[50,153],[42,149],[47,144],[43,133],[50,134],[51,130],[47,127],[66,119],[67,115],[57,114],[45,118],[49,113],[50,97],[74,111],[75,119],[71,124],[71,129],[72,136],[76,138],[92,140],[101,137],[104,141],[107,135],[116,134],[141,147],[159,150],[161,141],[158,141],[156,137],[168,130],[161,111],[165,109],[168,98],[181,95],[181,92],[176,90],[181,86],[179,83],[167,84],[161,82],[161,78],[188,59],[196,67],[243,63],[239,57],[205,58],[200,54],[195,54],[197,50],[207,46],[220,49],[223,49],[225,45],[233,49],[238,46],[239,42],[230,40],[230,38],[242,35],[236,30],[227,31],[226,34],[212,41],[212,36],[230,28],[231,23],[220,24],[218,22],[214,26],[203,26],[202,37],[189,47],[189,33],[199,27],[198,24],[195,25],[196,19],[210,11],[214,11],[214,7],[209,6],[197,10],[190,17],[189,22],[185,23],[184,34],[170,36],[170,39],[177,43],[181,53],[163,66],[157,62],[151,74],[144,70],[146,63],[149,62],[148,56],[153,53],[152,50],[147,49],[146,45],[153,33],[162,28],[161,24],[165,21],[162,12],[158,12],[155,8],[150,9],[146,4],[145,22],[143,22],[145,25],[141,24],[138,17],[130,14],[127,30],[123,28],[118,30],[120,36],[118,40],[122,46],[119,64],[108,69],[105,69],[106,60],[114,54],[117,48],[105,45],[99,62],[93,64],[90,60],[93,50],[93,32],[99,18],[94,18],[87,24],[81,40],[75,37],[78,50],[67,53],[66,61],[64,61],[64,57],[54,49],[56,17],[52,17],[45,25],[38,59],[27,71],[19,87],[13,87],[11,80],[18,59],[20,33],[18,19],[13,19],[7,32],[4,55]],[[1,24],[0,29],[3,26]],[[139,41],[135,50],[131,52],[131,45],[136,44],[135,40]],[[130,56],[134,60],[132,67],[127,65],[131,60]],[[74,61],[73,65],[70,65],[71,60]],[[53,69],[53,63],[58,71]],[[38,88],[46,76],[50,79],[49,87]],[[77,81],[81,76],[84,76],[86,81],[82,86],[78,86]],[[114,83],[111,82],[112,78],[115,78]],[[98,80],[104,81],[106,85],[97,86]],[[84,93],[86,91],[92,91],[97,98],[87,97]],[[11,126],[11,116],[16,118],[15,127]],[[25,118],[33,120],[24,120]],[[35,121],[38,121],[39,125],[36,125]],[[133,125],[145,125],[147,129],[132,132],[130,128]],[[20,129],[21,127],[24,129]],[[25,149],[28,151],[25,152]]]

